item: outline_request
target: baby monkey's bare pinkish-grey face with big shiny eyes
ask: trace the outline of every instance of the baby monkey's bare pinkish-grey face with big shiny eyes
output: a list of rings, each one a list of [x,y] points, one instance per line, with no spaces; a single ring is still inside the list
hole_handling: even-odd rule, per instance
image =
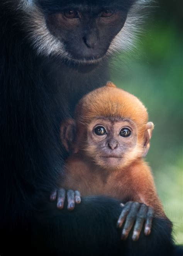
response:
[[[129,119],[100,117],[88,127],[86,152],[103,168],[121,168],[137,151],[136,125]]]

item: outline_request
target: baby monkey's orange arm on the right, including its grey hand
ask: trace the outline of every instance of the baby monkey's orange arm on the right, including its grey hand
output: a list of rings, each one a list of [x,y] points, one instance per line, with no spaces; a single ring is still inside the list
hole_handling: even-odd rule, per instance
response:
[[[128,191],[131,191],[132,201],[123,206],[117,226],[122,227],[124,224],[122,239],[125,240],[135,223],[132,239],[136,241],[144,224],[144,233],[148,236],[153,217],[166,218],[166,215],[156,193],[150,168],[142,159],[131,167],[130,180],[126,184]]]

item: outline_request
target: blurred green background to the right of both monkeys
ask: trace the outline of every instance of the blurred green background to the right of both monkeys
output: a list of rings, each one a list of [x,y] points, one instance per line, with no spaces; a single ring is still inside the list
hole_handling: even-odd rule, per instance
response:
[[[177,244],[183,244],[182,3],[153,4],[136,49],[112,62],[112,81],[142,100],[155,124],[146,160]]]

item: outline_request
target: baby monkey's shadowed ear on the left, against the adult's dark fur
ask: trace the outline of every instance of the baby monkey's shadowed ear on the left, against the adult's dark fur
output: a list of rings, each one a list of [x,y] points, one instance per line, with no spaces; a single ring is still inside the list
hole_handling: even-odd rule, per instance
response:
[[[60,138],[66,151],[71,153],[76,135],[76,123],[72,118],[66,119],[61,123]]]

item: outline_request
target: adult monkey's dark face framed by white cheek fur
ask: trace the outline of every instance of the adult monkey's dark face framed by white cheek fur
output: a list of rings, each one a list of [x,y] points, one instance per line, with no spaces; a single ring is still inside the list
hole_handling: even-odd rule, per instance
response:
[[[44,23],[41,24],[41,19],[37,16],[38,39],[35,45],[39,46],[39,52],[47,47],[49,54],[57,53],[64,59],[87,64],[100,61],[119,44],[115,42],[115,37],[119,32],[123,33],[122,28],[127,14],[135,0],[32,0],[30,2],[30,6],[34,6],[34,10],[41,14]],[[42,31],[38,26],[42,27]],[[126,35],[122,36],[126,37]]]

